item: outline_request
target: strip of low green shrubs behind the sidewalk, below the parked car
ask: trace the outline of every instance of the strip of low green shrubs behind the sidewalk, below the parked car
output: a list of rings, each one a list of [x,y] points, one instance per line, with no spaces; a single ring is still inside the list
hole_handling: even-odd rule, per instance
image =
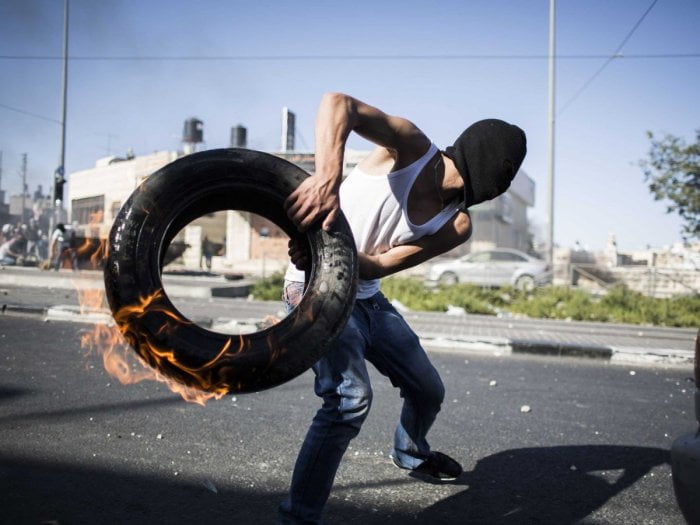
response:
[[[665,326],[700,325],[700,295],[654,299],[615,285],[602,297],[565,286],[546,286],[532,292],[510,287],[486,289],[458,284],[429,289],[418,279],[391,277],[382,281],[382,292],[412,310],[447,311],[461,306],[468,313],[511,313],[540,319],[571,319]]]

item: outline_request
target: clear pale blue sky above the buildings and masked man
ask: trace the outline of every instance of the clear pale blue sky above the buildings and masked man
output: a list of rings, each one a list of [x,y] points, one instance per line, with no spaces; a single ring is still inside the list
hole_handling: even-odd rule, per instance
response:
[[[228,147],[230,128],[243,124],[249,148],[275,151],[283,106],[297,115],[297,148],[311,151],[319,100],[341,91],[410,119],[440,147],[482,118],[518,124],[528,136],[522,169],[536,183],[530,220],[543,239],[549,8],[70,0],[66,171],[129,149],[181,149],[190,117],[204,121],[205,148]],[[20,191],[23,153],[30,191],[48,190],[58,166],[63,10],[62,0],[0,3],[0,187],[9,194]],[[555,20],[555,242],[600,250],[614,233],[635,250],[681,240],[639,161],[648,131],[692,142],[700,129],[700,2],[558,0]],[[684,54],[694,56],[668,56]],[[348,147],[371,145],[351,137]]]

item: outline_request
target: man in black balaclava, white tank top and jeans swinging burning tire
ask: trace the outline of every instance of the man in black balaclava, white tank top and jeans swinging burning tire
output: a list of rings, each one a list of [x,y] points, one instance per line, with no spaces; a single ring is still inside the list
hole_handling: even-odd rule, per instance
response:
[[[353,131],[377,147],[342,181],[345,144]],[[316,173],[289,196],[285,208],[300,232],[319,221],[329,228],[342,209],[357,245],[360,280],[350,320],[313,366],[323,405],[299,452],[279,523],[321,523],[342,456],[372,402],[367,361],[403,398],[394,464],[436,480],[462,473],[457,461],[428,444],[445,390],[418,337],[379,284],[469,239],[467,208],[506,191],[525,152],[523,131],[500,120],[471,125],[440,151],[406,119],[347,95],[324,95],[316,119]],[[309,257],[291,241],[289,254],[284,297],[293,308],[301,300]]]

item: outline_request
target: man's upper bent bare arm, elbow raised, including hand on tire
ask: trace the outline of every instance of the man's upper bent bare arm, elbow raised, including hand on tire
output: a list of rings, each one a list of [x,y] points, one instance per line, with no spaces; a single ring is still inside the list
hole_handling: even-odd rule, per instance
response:
[[[396,152],[412,148],[425,151],[430,144],[406,119],[387,115],[348,95],[327,93],[316,117],[316,173],[285,201],[285,211],[299,231],[322,219],[327,230],[338,216],[343,154],[351,131]]]

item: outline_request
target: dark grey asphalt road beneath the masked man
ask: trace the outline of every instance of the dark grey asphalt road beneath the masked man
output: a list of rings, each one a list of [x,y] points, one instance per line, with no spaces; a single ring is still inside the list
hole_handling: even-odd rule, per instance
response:
[[[80,348],[89,328],[0,316],[0,522],[273,523],[319,404],[311,375],[201,407],[118,384]],[[668,449],[693,428],[687,367],[431,357],[447,389],[431,443],[465,474],[433,485],[391,465],[400,399],[374,374],[328,523],[683,523]]]

